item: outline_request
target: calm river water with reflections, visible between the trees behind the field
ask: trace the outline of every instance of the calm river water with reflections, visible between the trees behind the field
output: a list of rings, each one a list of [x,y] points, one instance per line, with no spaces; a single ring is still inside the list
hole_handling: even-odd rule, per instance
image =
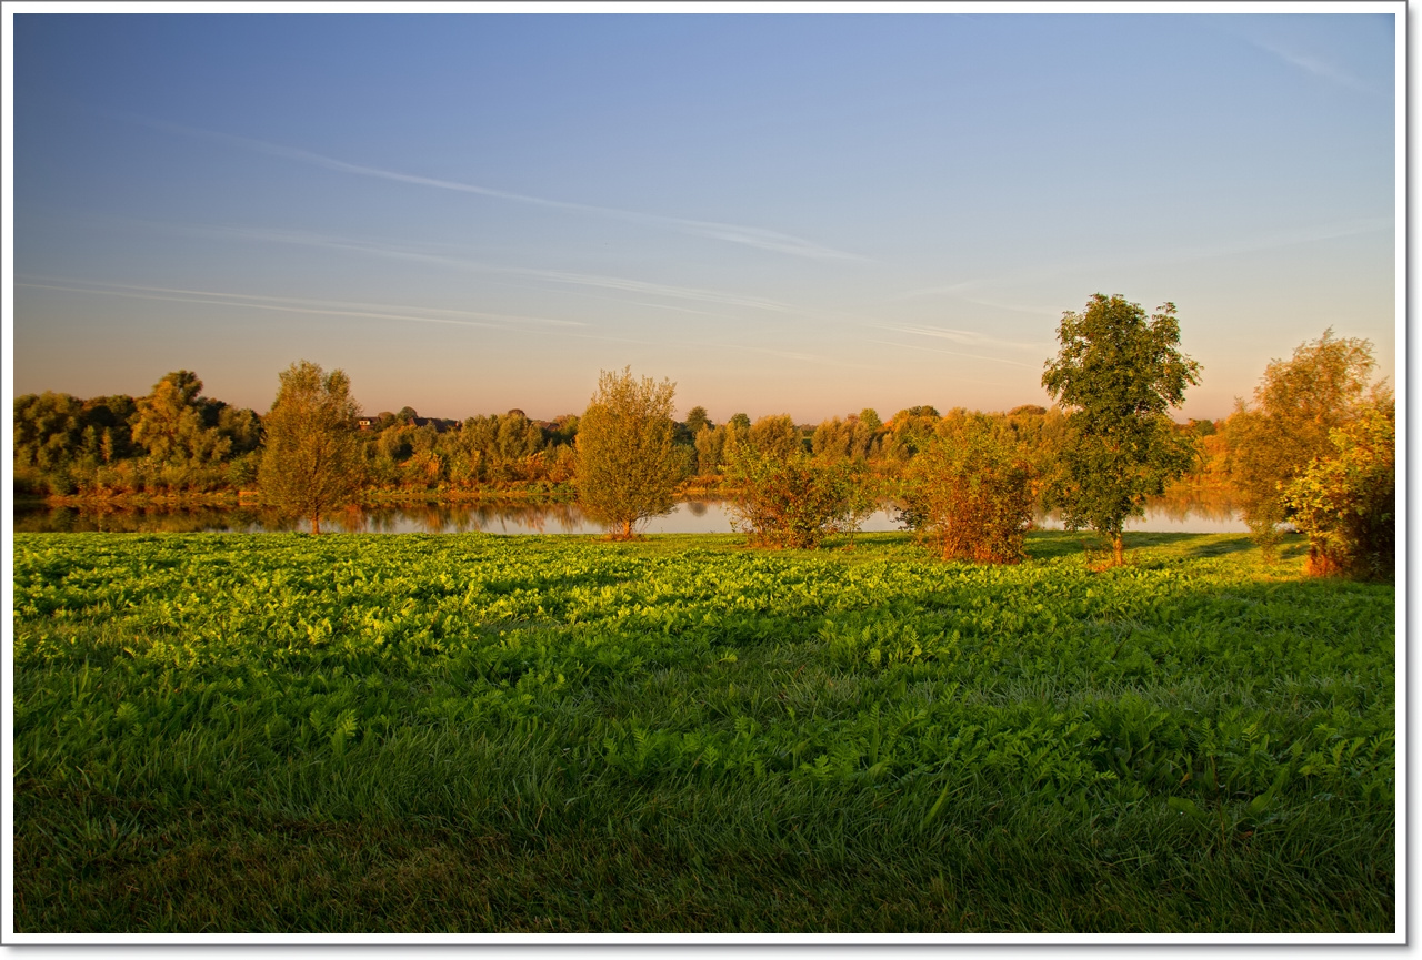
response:
[[[1041,514],[1035,525],[1061,530],[1054,514]],[[294,521],[260,507],[46,507],[16,504],[17,533],[276,533],[304,531]],[[368,534],[600,534],[573,503],[419,503],[390,507],[350,507],[321,521],[328,533]],[[732,514],[721,500],[687,500],[665,516],[648,521],[650,534],[731,533]],[[870,516],[862,530],[899,530],[892,506]],[[1143,520],[1126,530],[1155,533],[1241,533],[1244,523],[1219,496],[1170,497],[1153,503]]]

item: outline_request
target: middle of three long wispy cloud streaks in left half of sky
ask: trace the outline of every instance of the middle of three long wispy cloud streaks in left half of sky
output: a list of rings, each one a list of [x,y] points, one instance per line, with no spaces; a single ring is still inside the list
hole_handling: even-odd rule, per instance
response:
[[[731,307],[748,307],[771,312],[798,312],[795,307],[764,297],[748,297],[744,294],[725,293],[720,290],[702,290],[700,287],[678,287],[671,284],[648,283],[646,280],[631,280],[627,277],[609,277],[602,274],[574,273],[567,270],[542,270],[538,267],[509,267],[501,264],[481,263],[465,257],[445,253],[434,253],[428,249],[408,247],[374,240],[353,237],[333,237],[328,234],[306,233],[297,230],[266,230],[247,227],[218,227],[218,226],[185,226],[159,224],[158,229],[173,230],[191,236],[255,240],[262,243],[283,243],[303,247],[319,247],[326,250],[344,250],[374,257],[392,260],[408,260],[415,263],[431,263],[456,270],[471,270],[476,273],[499,274],[505,277],[520,277],[538,283],[552,283],[572,287],[597,287],[603,290],[617,290],[653,297],[670,297],[674,300],[691,300],[711,304],[725,304]]]

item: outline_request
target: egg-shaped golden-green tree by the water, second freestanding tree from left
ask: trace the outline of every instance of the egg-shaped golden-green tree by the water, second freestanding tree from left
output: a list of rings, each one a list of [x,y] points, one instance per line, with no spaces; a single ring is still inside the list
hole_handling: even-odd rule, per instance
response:
[[[630,366],[603,371],[577,422],[577,498],[614,537],[631,538],[638,523],[675,504],[673,494],[688,469],[674,442],[675,389],[671,381],[637,379]]]

